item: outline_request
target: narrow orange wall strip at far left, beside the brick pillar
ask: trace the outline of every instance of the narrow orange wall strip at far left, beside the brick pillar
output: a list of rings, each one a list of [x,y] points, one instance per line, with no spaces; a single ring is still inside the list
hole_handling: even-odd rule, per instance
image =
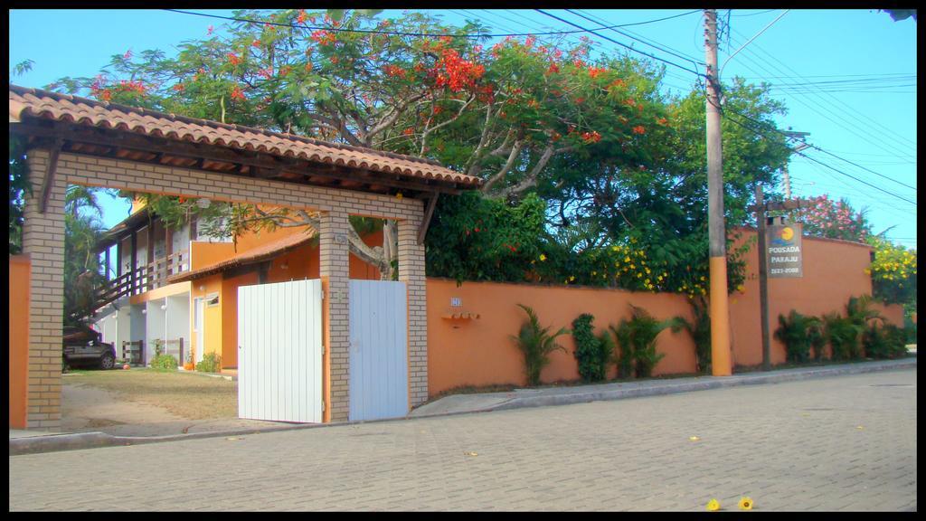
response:
[[[9,257],[9,428],[26,428],[29,403],[29,281],[27,255]]]

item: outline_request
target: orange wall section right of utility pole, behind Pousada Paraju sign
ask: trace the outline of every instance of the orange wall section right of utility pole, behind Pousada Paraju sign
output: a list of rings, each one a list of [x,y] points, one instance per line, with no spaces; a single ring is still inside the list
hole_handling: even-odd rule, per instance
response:
[[[755,236],[755,230],[743,230],[740,241]],[[833,240],[802,240],[804,276],[802,278],[769,279],[769,330],[771,362],[786,360],[784,345],[775,339],[778,315],[796,310],[806,315],[820,316],[839,311],[845,316],[845,304],[850,297],[871,294],[871,278],[864,270],[870,265],[871,248],[858,243]],[[762,363],[761,322],[758,299],[758,248],[746,255],[746,282],[743,293],[730,297],[730,323],[733,365]],[[884,306],[878,306],[885,310]],[[903,326],[903,308],[888,306],[884,312],[892,324]]]

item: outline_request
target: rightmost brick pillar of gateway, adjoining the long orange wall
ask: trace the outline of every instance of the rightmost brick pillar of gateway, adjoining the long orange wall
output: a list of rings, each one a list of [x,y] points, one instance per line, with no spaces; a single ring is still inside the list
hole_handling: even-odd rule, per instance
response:
[[[399,280],[408,291],[408,400],[428,400],[428,317],[425,299],[424,245],[418,244],[419,219],[399,222]]]

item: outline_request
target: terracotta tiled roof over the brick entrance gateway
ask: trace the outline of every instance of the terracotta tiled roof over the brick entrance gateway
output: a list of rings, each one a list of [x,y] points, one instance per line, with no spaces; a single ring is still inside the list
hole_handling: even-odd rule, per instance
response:
[[[478,177],[454,172],[431,159],[328,143],[219,121],[197,120],[147,108],[127,107],[10,84],[9,119],[11,122],[21,121],[24,116],[394,173],[412,179],[432,179],[456,183],[463,188],[475,188],[482,184]]]

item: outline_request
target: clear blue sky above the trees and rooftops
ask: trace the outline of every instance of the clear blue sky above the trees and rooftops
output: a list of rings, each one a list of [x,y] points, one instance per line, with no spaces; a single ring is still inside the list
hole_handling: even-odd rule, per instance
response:
[[[231,15],[231,10],[195,11]],[[579,15],[607,25],[683,15],[621,28],[625,34],[601,34],[680,65],[692,67],[685,57],[704,61],[703,17],[700,12],[685,14],[692,9],[546,11],[589,29],[600,26]],[[524,9],[431,12],[452,23],[479,19],[496,33],[575,29]],[[727,19],[727,10],[719,13],[720,19]],[[11,81],[32,87],[44,87],[63,76],[94,76],[112,55],[129,49],[136,55],[153,48],[173,55],[176,44],[205,37],[210,25],[220,33],[223,25],[219,19],[154,9],[14,9],[9,14],[10,69],[27,58],[34,62],[30,72]],[[381,17],[401,14],[386,11]],[[917,209],[903,199],[917,199],[917,22],[895,22],[874,9],[734,9],[729,14],[730,39],[724,38],[720,45],[719,60],[725,63],[722,78],[737,75],[772,83],[775,98],[789,109],[778,118],[779,127],[810,133],[808,143],[825,152],[807,149],[804,153],[844,172],[795,155],[790,167],[793,196],[845,197],[855,208],[868,209],[875,232],[894,226],[887,235],[915,248]],[[622,48],[591,37],[602,49]],[[672,66],[667,72],[667,88],[676,92],[686,92],[694,83],[694,74]],[[124,202],[106,202],[107,225],[127,214]]]

